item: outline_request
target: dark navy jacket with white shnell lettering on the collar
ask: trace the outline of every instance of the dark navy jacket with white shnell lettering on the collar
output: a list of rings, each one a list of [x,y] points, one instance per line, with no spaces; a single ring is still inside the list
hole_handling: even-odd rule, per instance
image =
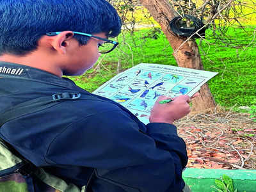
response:
[[[74,100],[14,118],[0,137],[47,172],[89,191],[182,191],[186,145],[171,124],[141,123],[120,104],[36,68],[0,63],[0,113],[56,93],[80,93]],[[40,99],[38,99],[40,102]],[[46,105],[46,104],[45,104]]]

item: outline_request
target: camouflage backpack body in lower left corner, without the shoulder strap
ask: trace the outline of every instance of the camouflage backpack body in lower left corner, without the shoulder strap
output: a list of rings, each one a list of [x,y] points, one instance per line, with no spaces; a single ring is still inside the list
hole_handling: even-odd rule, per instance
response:
[[[1,192],[34,192],[35,188],[44,192],[82,192],[74,184],[46,173],[24,159],[15,156],[13,151],[0,141],[0,191]],[[38,190],[37,190],[38,191]]]

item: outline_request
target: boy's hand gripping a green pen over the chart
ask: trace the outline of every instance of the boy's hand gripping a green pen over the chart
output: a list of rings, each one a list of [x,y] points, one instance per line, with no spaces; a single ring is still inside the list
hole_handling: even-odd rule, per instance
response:
[[[172,102],[159,104],[159,101],[164,99],[170,99],[170,97],[160,96],[157,99],[150,113],[150,123],[173,124],[175,120],[179,120],[190,112],[188,95],[180,95],[172,99]]]

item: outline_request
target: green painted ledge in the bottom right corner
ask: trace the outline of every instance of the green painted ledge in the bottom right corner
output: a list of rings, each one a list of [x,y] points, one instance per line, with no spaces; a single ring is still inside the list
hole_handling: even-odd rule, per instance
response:
[[[215,179],[228,175],[238,192],[256,192],[256,170],[214,170],[187,168],[182,177],[193,192],[212,192]],[[215,190],[216,191],[216,190]]]

